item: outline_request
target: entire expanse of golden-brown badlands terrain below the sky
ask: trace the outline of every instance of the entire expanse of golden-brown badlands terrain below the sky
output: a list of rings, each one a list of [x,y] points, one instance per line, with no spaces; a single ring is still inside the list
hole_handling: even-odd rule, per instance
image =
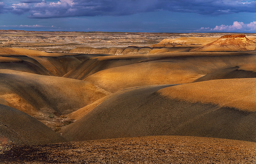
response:
[[[254,34],[1,33],[0,163],[256,163]]]

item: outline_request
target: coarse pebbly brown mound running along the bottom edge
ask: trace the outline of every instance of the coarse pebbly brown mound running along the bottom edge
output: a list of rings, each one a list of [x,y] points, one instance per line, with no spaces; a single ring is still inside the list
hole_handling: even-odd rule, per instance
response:
[[[1,163],[256,163],[254,142],[204,137],[152,136],[15,146]],[[25,158],[26,157],[26,158]]]

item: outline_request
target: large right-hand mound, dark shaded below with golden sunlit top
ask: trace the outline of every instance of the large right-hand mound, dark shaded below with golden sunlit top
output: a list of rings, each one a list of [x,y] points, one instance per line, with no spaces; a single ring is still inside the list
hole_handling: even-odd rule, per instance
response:
[[[181,135],[255,142],[255,88],[255,79],[224,79],[125,89],[62,132],[70,141]]]

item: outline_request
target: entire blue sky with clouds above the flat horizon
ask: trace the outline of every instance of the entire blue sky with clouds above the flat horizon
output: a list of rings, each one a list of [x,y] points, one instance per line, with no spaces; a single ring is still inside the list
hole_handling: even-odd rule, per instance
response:
[[[256,0],[0,0],[0,29],[256,33]]]

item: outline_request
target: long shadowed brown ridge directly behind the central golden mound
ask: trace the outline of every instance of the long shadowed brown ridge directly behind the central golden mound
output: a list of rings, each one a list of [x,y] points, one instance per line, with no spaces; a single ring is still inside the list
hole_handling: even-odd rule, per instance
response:
[[[66,75],[63,77],[68,77],[72,79],[78,79],[78,80],[84,80],[86,77],[93,75],[94,73],[97,73],[101,70],[109,69],[109,68],[115,68],[118,66],[124,66],[124,65],[130,65],[130,64],[136,64],[136,63],[142,63],[142,62],[150,62],[150,61],[160,61],[165,59],[168,62],[178,62],[182,65],[183,61],[192,60],[195,58],[195,60],[198,60],[200,57],[204,59],[204,62],[210,63],[210,59],[212,57],[221,58],[222,56],[229,60],[230,58],[236,58],[235,56],[243,56],[247,55],[251,52],[232,52],[232,53],[226,53],[226,52],[180,52],[180,53],[155,53],[155,54],[137,54],[137,55],[122,55],[122,56],[102,56],[102,57],[93,57],[86,61],[83,61],[81,64],[79,64],[76,68],[70,70]],[[253,57],[251,57],[252,60],[254,59],[254,54],[252,54]],[[240,57],[243,60],[242,57]],[[214,60],[214,58],[212,58]],[[222,61],[220,64],[222,64]],[[226,61],[228,63],[228,61]],[[236,61],[237,63],[240,63],[239,61]],[[248,61],[247,61],[248,62]],[[247,63],[245,62],[245,63]],[[177,63],[177,62],[176,62]],[[217,63],[217,62],[215,62]],[[195,63],[196,65],[199,65],[198,63]],[[244,64],[244,62],[242,62]],[[192,65],[192,64],[189,64]],[[192,65],[193,66],[193,65]],[[232,65],[233,66],[233,65]],[[235,65],[236,66],[236,65]],[[216,66],[214,66],[215,69]],[[226,67],[225,67],[226,68]],[[210,73],[210,72],[207,72]]]

